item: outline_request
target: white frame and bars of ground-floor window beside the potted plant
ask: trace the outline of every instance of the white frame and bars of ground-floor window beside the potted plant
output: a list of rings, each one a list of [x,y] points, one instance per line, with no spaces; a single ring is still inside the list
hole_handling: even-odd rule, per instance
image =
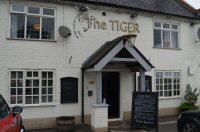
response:
[[[157,79],[156,73],[157,73],[157,72],[162,72],[162,73],[163,73],[163,85],[162,85],[162,87],[163,87],[163,90],[162,90],[162,91],[163,91],[163,96],[160,96],[160,93],[159,93],[159,92],[160,92],[161,90],[160,90],[160,89],[159,89],[159,90],[156,89],[156,86],[157,86],[157,85],[160,85],[160,83],[159,83],[159,84],[156,83],[156,79]],[[172,85],[172,86],[171,86],[172,96],[164,96],[164,92],[165,92],[165,88],[164,88],[164,86],[165,86],[164,79],[166,78],[164,74],[165,74],[166,72],[171,72],[171,73],[172,73],[172,78],[171,78],[171,79],[172,79],[172,83],[171,83],[171,85]],[[179,82],[179,95],[174,95],[174,93],[173,93],[173,92],[174,92],[174,87],[173,87],[173,86],[174,86],[174,82],[173,82],[174,76],[173,76],[173,74],[174,74],[175,72],[178,72],[178,73],[180,74],[180,78],[179,78],[179,79],[180,79],[180,82]],[[182,97],[182,95],[181,95],[181,91],[182,91],[182,90],[181,90],[181,88],[182,88],[182,85],[181,85],[181,84],[182,84],[182,83],[181,83],[181,82],[182,82],[182,74],[181,74],[181,71],[180,71],[180,70],[155,70],[154,73],[155,73],[155,75],[154,75],[154,76],[155,76],[154,86],[155,86],[155,91],[158,92],[159,99],[180,98],[180,97]]]

